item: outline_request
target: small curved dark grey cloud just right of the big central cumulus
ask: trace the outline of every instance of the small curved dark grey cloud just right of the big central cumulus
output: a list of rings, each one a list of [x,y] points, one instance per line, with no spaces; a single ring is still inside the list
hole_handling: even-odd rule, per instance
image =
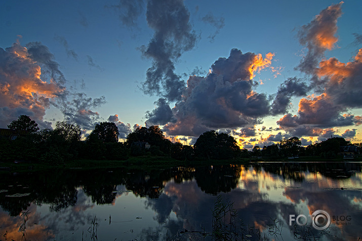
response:
[[[284,114],[287,111],[291,98],[293,96],[301,97],[307,94],[309,87],[300,79],[288,78],[284,83],[280,84],[276,97],[272,103],[271,114]]]

